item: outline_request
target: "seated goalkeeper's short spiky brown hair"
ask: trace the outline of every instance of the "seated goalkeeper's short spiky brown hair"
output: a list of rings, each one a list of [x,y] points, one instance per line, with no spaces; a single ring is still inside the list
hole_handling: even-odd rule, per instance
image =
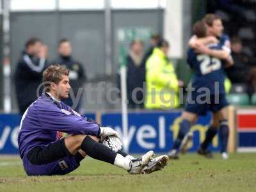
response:
[[[43,83],[45,83],[46,92],[50,91],[49,83],[58,84],[62,80],[62,76],[68,76],[68,74],[68,68],[60,64],[47,67],[43,72]]]

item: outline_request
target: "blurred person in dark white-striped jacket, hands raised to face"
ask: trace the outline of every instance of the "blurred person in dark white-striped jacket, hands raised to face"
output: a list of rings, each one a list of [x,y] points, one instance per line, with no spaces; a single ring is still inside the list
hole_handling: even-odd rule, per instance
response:
[[[42,83],[48,51],[40,38],[30,38],[25,47],[14,74],[17,102],[22,114],[37,99],[36,90]]]

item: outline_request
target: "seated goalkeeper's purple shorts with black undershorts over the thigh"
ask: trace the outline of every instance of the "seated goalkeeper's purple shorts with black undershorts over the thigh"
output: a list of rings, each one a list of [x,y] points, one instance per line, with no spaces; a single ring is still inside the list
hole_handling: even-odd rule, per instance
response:
[[[34,147],[24,154],[22,163],[28,175],[65,175],[79,167],[83,156],[63,152],[64,140],[43,147]]]

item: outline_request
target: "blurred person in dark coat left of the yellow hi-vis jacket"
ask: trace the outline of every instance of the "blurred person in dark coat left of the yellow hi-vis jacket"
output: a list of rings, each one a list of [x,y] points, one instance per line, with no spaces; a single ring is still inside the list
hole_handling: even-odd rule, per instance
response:
[[[126,58],[129,108],[143,108],[143,92],[135,90],[136,88],[143,89],[145,80],[145,67],[142,65],[143,43],[140,40],[133,40],[130,48]],[[132,95],[133,91],[134,95]]]

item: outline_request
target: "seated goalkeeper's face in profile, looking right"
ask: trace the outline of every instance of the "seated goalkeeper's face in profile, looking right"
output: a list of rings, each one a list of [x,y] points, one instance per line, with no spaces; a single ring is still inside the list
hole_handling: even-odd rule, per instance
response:
[[[62,76],[63,78],[61,81],[57,84],[56,86],[56,92],[58,95],[58,99],[67,99],[68,94],[70,92],[70,84],[69,84],[69,79],[68,76]]]

